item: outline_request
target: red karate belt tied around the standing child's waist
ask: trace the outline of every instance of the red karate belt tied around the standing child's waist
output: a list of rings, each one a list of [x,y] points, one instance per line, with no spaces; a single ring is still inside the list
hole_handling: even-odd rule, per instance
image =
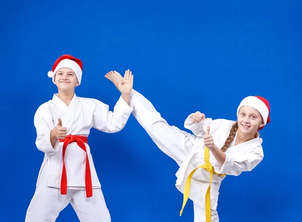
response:
[[[77,144],[81,147],[82,150],[86,153],[86,171],[85,171],[85,187],[86,187],[86,196],[92,197],[92,180],[91,180],[91,172],[90,172],[90,165],[89,165],[89,158],[87,155],[86,145],[85,143],[88,142],[86,136],[77,136],[77,135],[67,135],[64,139],[59,139],[60,142],[63,143],[63,169],[62,169],[62,178],[61,178],[61,194],[67,194],[67,175],[66,175],[66,168],[65,168],[65,152],[67,145],[71,142],[77,142]]]

